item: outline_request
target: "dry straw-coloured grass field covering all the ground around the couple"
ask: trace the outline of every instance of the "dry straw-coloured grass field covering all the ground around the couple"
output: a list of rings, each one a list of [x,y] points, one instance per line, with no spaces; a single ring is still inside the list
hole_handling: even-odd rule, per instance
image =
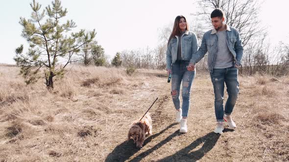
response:
[[[0,66],[0,162],[289,161],[289,77],[240,76],[235,130],[216,124],[210,76],[193,82],[186,134],[174,123],[165,71],[73,66],[49,92]],[[142,149],[127,131],[151,103],[152,136]]]

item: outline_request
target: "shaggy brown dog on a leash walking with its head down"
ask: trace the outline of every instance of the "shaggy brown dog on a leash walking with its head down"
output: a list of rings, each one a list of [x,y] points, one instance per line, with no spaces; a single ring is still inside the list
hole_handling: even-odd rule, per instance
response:
[[[152,135],[152,124],[151,117],[149,113],[145,114],[141,121],[135,121],[128,131],[127,141],[131,138],[134,143],[137,143],[137,148],[142,148],[145,142],[145,136]]]

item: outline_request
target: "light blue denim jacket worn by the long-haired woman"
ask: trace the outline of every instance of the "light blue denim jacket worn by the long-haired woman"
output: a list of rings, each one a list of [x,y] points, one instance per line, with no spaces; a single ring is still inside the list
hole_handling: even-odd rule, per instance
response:
[[[182,60],[190,61],[198,50],[198,41],[194,33],[186,31],[181,37]],[[171,69],[171,64],[177,60],[179,37],[172,37],[167,48],[167,69]]]

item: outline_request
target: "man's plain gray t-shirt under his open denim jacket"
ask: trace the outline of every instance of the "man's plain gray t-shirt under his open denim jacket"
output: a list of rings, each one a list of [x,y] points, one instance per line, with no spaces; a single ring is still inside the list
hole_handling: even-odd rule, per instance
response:
[[[215,58],[214,69],[223,69],[233,66],[234,57],[226,42],[226,30],[217,32],[218,49]]]

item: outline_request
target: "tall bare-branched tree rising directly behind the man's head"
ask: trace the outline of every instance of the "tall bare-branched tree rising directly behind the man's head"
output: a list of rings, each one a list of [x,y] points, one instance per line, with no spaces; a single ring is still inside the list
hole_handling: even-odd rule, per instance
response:
[[[225,22],[235,27],[241,35],[243,46],[254,37],[258,37],[265,30],[258,19],[261,3],[259,0],[197,0],[201,12],[194,15],[203,16],[203,26],[211,26],[211,12],[220,8],[225,12]]]

